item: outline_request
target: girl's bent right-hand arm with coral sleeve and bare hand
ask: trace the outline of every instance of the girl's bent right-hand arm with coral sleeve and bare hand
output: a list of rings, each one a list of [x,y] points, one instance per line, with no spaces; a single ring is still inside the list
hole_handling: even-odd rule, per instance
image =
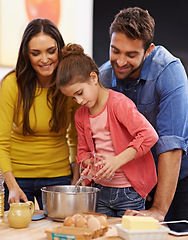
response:
[[[116,156],[101,155],[102,161],[98,165],[103,165],[103,168],[97,173],[99,178],[110,179],[115,171],[131,160],[145,155],[150,151],[151,147],[157,142],[158,135],[148,120],[137,110],[136,106],[130,99],[122,99],[117,104],[114,104],[114,113],[119,122],[124,125],[122,132],[132,136],[130,142],[125,144],[125,150],[117,153]],[[113,124],[113,123],[112,123]],[[117,124],[117,123],[116,123]],[[117,125],[116,125],[117,126]],[[117,131],[117,127],[111,127]],[[120,129],[120,128],[119,128]],[[112,133],[111,133],[112,134]],[[115,132],[112,134],[116,150],[120,144],[118,136]],[[122,144],[123,145],[123,144]],[[124,146],[122,146],[123,148]]]

